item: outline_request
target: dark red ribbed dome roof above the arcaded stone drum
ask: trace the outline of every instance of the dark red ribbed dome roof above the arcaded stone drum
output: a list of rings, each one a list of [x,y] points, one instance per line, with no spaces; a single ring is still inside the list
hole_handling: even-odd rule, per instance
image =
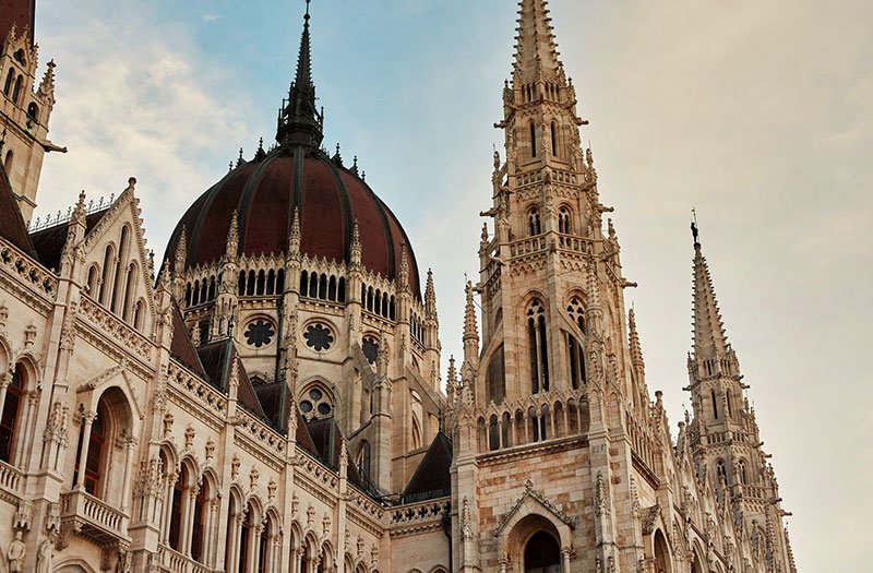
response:
[[[191,205],[165,256],[175,255],[184,227],[186,266],[217,262],[225,255],[234,212],[239,220],[239,254],[285,253],[295,208],[300,213],[300,250],[310,256],[349,262],[357,220],[363,266],[395,279],[406,246],[409,286],[421,298],[415,254],[391,210],[355,172],[321,151],[303,147],[279,146],[227,174]]]

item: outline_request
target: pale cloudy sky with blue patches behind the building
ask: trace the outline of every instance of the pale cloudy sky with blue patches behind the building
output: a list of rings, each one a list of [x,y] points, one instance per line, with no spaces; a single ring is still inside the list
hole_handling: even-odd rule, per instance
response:
[[[646,379],[671,425],[687,396],[692,241],[704,254],[800,571],[864,571],[873,475],[873,3],[552,0],[601,201],[622,246]],[[275,133],[292,76],[297,0],[40,0],[53,58],[37,215],[137,178],[148,244],[239,147]],[[461,354],[465,273],[478,272],[493,129],[511,71],[510,0],[315,0],[325,145],[367,181],[433,268],[443,368]]]

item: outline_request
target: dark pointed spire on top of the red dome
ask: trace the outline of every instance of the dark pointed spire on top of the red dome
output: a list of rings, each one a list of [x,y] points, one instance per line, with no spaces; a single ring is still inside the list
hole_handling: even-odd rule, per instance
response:
[[[276,141],[279,145],[300,145],[318,150],[324,136],[324,115],[315,108],[315,84],[312,81],[312,49],[309,37],[309,2],[303,15],[303,33],[297,56],[297,74],[279,110]]]

